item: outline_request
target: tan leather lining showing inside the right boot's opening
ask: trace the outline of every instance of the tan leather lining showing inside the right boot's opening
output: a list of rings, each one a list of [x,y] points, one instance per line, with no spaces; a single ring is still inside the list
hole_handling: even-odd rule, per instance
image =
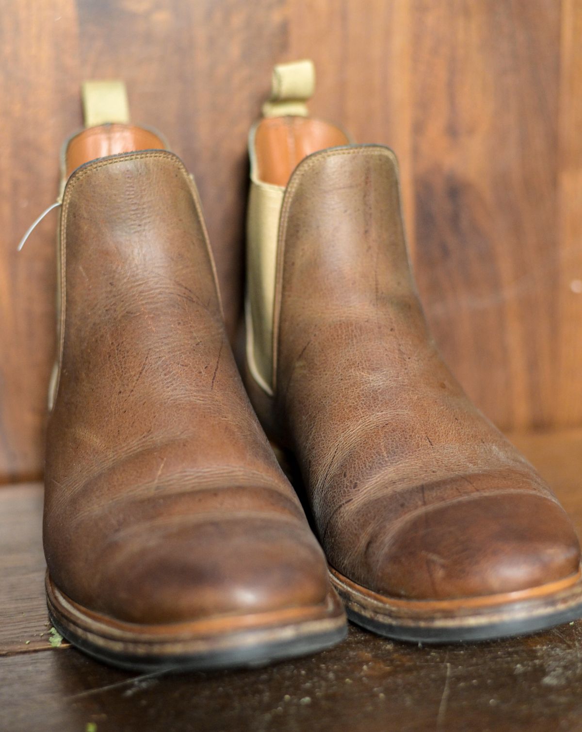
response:
[[[348,145],[345,132],[322,119],[271,117],[263,119],[254,135],[257,177],[285,186],[298,163],[312,152]]]

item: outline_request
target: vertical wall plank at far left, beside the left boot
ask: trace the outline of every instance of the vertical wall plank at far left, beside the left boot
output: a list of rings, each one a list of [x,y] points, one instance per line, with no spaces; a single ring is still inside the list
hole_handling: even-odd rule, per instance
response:
[[[42,469],[54,357],[52,214],[17,254],[20,236],[56,199],[58,149],[76,100],[72,0],[0,7],[0,482]]]

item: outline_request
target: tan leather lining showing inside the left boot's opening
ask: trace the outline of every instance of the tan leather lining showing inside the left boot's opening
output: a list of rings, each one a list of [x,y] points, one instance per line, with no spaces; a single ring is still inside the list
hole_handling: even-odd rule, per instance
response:
[[[67,176],[83,163],[99,157],[139,150],[163,150],[162,140],[135,124],[100,124],[88,127],[69,141],[67,146]]]

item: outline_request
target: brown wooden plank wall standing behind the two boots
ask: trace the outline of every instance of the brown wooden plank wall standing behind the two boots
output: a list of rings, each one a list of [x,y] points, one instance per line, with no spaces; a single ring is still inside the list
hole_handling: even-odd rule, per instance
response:
[[[246,135],[276,61],[401,160],[434,335],[504,428],[582,425],[582,0],[0,0],[0,482],[42,474],[58,150],[85,78],[196,176],[233,333]]]

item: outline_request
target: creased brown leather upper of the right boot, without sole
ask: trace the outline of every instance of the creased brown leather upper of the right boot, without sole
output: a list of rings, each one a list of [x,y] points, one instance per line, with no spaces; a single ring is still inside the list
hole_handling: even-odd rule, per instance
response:
[[[328,561],[379,593],[448,599],[578,570],[551,490],[469,402],[412,280],[382,146],[312,155],[287,189],[271,424],[295,453]]]

